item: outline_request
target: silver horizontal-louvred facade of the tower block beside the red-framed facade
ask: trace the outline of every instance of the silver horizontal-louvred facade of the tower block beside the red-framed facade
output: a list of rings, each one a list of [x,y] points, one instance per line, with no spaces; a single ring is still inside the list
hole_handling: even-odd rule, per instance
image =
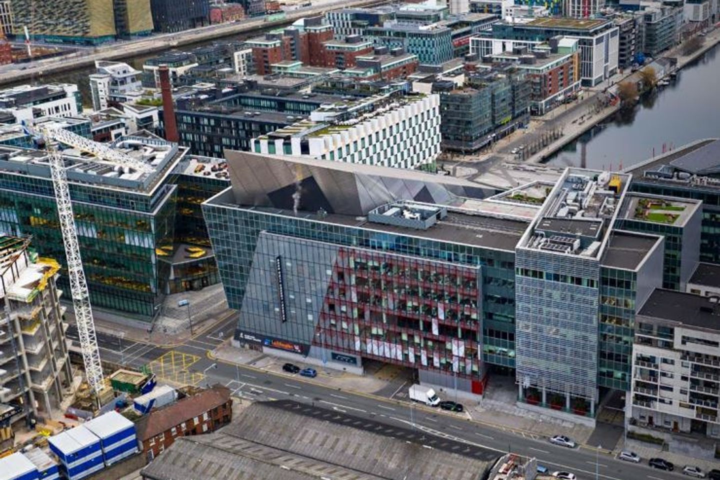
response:
[[[597,261],[520,249],[516,271],[516,379],[525,386],[595,399],[598,378]],[[595,281],[595,287],[550,281],[548,276]]]

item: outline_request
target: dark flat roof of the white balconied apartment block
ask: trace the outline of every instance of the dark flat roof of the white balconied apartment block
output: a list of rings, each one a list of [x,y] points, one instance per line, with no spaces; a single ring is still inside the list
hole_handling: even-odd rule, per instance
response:
[[[720,332],[720,305],[713,298],[654,289],[638,315]]]

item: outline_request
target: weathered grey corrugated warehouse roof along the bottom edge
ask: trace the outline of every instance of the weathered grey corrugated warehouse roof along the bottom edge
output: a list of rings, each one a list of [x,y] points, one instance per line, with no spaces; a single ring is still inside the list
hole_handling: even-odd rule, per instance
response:
[[[221,433],[181,438],[144,470],[153,480],[477,480],[498,453],[290,400],[258,402]]]

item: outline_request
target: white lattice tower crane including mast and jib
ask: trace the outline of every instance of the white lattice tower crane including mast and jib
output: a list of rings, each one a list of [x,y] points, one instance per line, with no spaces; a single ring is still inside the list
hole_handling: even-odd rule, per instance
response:
[[[68,175],[65,168],[63,153],[58,148],[58,142],[77,148],[85,153],[90,153],[101,160],[116,163],[123,168],[134,168],[135,170],[147,172],[149,166],[140,163],[139,160],[112,150],[98,142],[88,140],[85,137],[76,135],[68,130],[60,128],[40,127],[35,129],[24,125],[24,129],[34,137],[44,137],[48,160],[50,163],[50,174],[53,179],[53,190],[55,201],[58,205],[58,217],[60,218],[60,229],[63,233],[65,244],[65,256],[68,266],[68,277],[70,279],[70,290],[73,298],[73,309],[75,309],[75,320],[80,338],[80,348],[83,354],[85,375],[91,391],[98,394],[102,390],[103,376],[102,364],[100,363],[100,352],[97,347],[95,335],[95,323],[92,316],[90,296],[88,292],[83,262],[80,256],[78,245],[78,232],[73,215],[73,204],[68,188]]]

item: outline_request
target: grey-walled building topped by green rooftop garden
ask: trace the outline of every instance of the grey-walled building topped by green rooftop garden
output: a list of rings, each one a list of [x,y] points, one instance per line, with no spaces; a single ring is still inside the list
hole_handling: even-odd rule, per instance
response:
[[[616,227],[665,238],[662,288],[685,291],[700,255],[701,202],[629,194]]]

